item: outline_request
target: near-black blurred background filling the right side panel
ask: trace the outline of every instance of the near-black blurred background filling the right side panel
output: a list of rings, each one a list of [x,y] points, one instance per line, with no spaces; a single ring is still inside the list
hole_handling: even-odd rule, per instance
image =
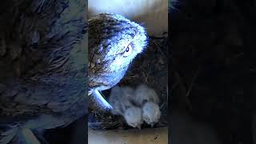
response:
[[[169,14],[170,112],[207,122],[222,143],[253,143],[256,1],[181,0],[176,7]]]

